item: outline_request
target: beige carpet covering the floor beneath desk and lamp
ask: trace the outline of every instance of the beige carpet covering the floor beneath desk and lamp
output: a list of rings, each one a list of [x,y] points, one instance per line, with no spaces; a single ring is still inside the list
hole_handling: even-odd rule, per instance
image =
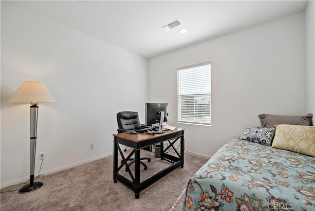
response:
[[[168,165],[152,152],[141,150],[143,156],[151,157],[152,161],[145,161],[146,171],[141,165],[141,181]],[[32,193],[18,193],[24,184],[3,188],[0,210],[181,211],[189,177],[208,160],[187,153],[184,158],[184,168],[175,169],[143,190],[139,199],[122,183],[113,182],[113,157],[109,157],[40,177],[37,180],[44,185]],[[124,171],[122,174],[128,176]]]

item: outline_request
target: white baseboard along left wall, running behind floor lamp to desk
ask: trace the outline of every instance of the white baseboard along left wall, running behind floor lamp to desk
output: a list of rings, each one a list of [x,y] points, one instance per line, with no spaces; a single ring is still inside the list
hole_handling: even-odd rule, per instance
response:
[[[112,155],[113,155],[113,152],[110,152],[110,153],[106,153],[106,154],[100,155],[100,157],[106,158],[106,157],[109,157],[109,156],[112,156]],[[70,169],[72,167],[80,166],[82,164],[89,163],[91,161],[95,161],[95,160],[101,159],[100,157],[95,156],[93,158],[89,158],[89,159],[86,159],[86,160],[78,161],[78,162],[75,162],[75,163],[71,163],[71,164],[68,164],[68,165],[65,165],[65,166],[62,166],[62,167],[58,167],[58,168],[55,168],[55,169],[47,170],[47,171],[44,171],[44,172],[40,172],[40,174],[41,175],[50,175],[50,174],[53,174],[53,173],[56,173],[56,172],[63,171],[65,169]],[[19,179],[15,179],[15,180],[12,180],[12,181],[4,182],[4,183],[1,184],[0,189],[5,188],[5,187],[9,187],[11,185],[20,184],[22,182],[26,182],[29,179],[30,179],[30,176],[25,176],[25,177],[22,177],[22,178],[19,178]]]

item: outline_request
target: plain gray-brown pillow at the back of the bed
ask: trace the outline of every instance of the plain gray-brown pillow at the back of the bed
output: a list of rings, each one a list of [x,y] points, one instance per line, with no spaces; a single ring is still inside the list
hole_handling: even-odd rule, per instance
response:
[[[313,114],[308,113],[304,116],[282,116],[272,114],[259,114],[261,127],[274,127],[275,125],[310,125],[312,126]]]

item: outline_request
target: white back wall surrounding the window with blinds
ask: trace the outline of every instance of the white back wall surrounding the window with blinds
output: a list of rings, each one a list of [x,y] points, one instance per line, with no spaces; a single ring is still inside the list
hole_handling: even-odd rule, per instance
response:
[[[301,12],[150,59],[150,101],[169,103],[169,123],[186,129],[186,150],[211,156],[247,125],[260,126],[260,113],[306,114],[304,41]],[[175,69],[206,61],[212,126],[178,124]]]

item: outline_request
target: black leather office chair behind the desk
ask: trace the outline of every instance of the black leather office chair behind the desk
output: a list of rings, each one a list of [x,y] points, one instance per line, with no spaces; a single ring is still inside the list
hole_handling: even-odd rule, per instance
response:
[[[131,130],[140,130],[146,128],[146,126],[140,124],[139,115],[136,111],[121,111],[117,113],[118,133],[124,133]],[[125,150],[126,151],[126,150]],[[151,158],[141,157],[140,163],[144,166],[144,170],[147,170],[147,165],[141,160],[148,160],[151,162]],[[128,166],[134,163],[134,158],[129,159]],[[123,161],[122,161],[123,162]],[[127,171],[127,169],[126,169]]]

